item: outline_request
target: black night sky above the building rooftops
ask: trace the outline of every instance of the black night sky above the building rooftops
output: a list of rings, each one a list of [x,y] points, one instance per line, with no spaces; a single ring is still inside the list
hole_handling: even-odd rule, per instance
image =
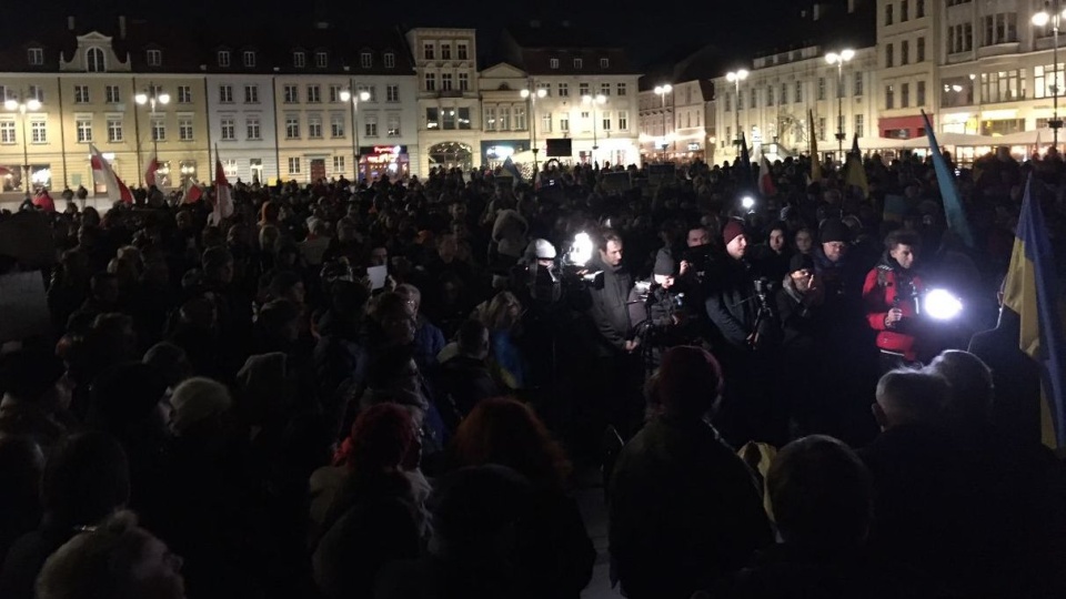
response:
[[[607,33],[630,50],[633,62],[644,65],[660,57],[674,55],[680,49],[714,43],[737,58],[758,49],[777,45],[782,23],[798,10],[796,0],[710,0],[666,2],[616,0],[575,2],[574,0],[408,0],[399,2],[353,2],[351,0],[94,0],[91,11],[84,0],[39,2],[27,23],[61,20],[73,13],[81,19],[112,19],[127,14],[178,27],[195,27],[205,20],[232,22],[234,27],[294,22],[315,12],[331,22],[365,26],[383,24],[474,27],[479,43],[491,49],[499,32],[509,23],[541,20],[544,23],[569,20],[579,29]],[[665,9],[665,10],[664,10]],[[33,10],[33,9],[31,9]],[[12,14],[9,12],[9,14]],[[105,17],[107,16],[107,17]],[[2,42],[0,42],[2,43]]]

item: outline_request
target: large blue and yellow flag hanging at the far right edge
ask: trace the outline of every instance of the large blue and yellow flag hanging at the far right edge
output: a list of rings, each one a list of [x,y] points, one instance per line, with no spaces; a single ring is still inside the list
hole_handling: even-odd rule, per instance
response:
[[[1025,185],[1014,253],[1004,284],[1003,305],[1022,317],[1018,347],[1042,367],[1040,436],[1053,449],[1066,448],[1066,365],[1063,323],[1052,244],[1040,203],[1033,196],[1033,176]]]

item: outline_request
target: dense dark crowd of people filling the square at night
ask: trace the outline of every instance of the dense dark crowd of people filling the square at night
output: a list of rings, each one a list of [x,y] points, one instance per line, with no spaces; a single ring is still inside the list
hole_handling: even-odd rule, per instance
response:
[[[997,304],[1063,161],[961,170],[973,245],[916,156],[809,166],[754,202],[700,161],[28,202],[52,333],[0,356],[0,597],[575,598],[597,469],[634,599],[1066,596]]]

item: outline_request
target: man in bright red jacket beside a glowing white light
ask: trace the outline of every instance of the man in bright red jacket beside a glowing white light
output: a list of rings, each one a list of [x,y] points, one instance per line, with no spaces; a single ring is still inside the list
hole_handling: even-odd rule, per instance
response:
[[[922,277],[914,272],[918,253],[918,235],[913,231],[893,231],[885,238],[885,255],[866,275],[863,302],[866,321],[877,331],[877,348],[882,366],[897,368],[917,362],[919,341],[915,319],[918,300],[925,291]]]

